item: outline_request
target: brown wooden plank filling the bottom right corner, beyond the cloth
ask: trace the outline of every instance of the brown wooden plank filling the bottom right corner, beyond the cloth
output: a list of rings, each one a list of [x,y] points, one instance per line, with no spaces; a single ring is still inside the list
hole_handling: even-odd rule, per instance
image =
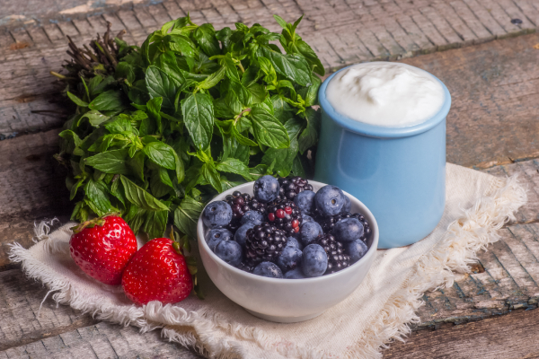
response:
[[[393,343],[384,359],[500,359],[539,357],[539,311],[515,311],[501,317],[444,325],[412,332]]]

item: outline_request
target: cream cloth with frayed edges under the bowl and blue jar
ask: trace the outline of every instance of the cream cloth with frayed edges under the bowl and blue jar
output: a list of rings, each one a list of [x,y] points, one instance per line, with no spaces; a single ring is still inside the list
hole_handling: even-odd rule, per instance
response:
[[[36,225],[36,244],[15,244],[14,262],[49,287],[55,301],[100,320],[160,328],[163,337],[216,358],[376,358],[381,348],[419,322],[422,293],[453,285],[475,253],[497,241],[497,231],[526,203],[517,179],[499,179],[453,164],[446,167],[446,210],[427,238],[405,248],[378,250],[370,272],[348,299],[314,320],[277,324],[260,320],[229,301],[209,278],[205,300],[190,296],[176,305],[150,302],[137,307],[120,287],[85,276],[69,256],[66,223],[49,233]],[[413,218],[410,219],[413,221]],[[324,288],[320,288],[323,295]]]

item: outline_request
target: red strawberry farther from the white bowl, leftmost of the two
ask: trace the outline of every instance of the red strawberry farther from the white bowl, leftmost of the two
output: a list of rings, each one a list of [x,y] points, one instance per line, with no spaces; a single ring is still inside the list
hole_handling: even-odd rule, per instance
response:
[[[135,234],[128,223],[115,215],[75,228],[69,244],[76,265],[88,276],[106,285],[121,283],[124,267],[137,252]]]

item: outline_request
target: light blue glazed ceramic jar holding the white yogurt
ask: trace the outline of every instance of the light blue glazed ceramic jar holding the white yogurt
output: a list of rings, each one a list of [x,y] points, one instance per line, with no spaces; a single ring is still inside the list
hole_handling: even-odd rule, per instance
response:
[[[380,231],[378,248],[420,241],[437,226],[446,205],[446,116],[451,106],[446,85],[440,82],[446,99],[432,118],[410,127],[378,127],[331,107],[325,92],[335,74],[318,93],[322,128],[314,180],[342,188],[371,210]]]

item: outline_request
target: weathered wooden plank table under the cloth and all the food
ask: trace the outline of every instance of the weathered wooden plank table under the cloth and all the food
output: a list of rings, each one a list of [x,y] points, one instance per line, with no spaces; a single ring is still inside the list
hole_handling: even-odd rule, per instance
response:
[[[502,239],[478,254],[473,273],[457,277],[451,288],[425,293],[425,305],[420,309],[422,324],[413,328],[406,343],[394,343],[385,350],[384,357],[539,357],[539,311],[535,311],[539,301],[539,162],[535,161],[539,156],[539,34],[522,35],[535,31],[539,19],[533,17],[536,10],[534,13],[534,8],[528,7],[526,16],[517,13],[527,19],[522,26],[500,25],[498,29],[491,20],[506,23],[500,20],[499,9],[500,4],[506,11],[513,9],[507,2],[465,1],[483,29],[490,29],[482,33],[480,25],[472,20],[466,22],[469,16],[461,1],[417,2],[417,6],[410,5],[401,13],[384,3],[379,8],[385,12],[384,16],[378,15],[381,22],[361,23],[362,29],[376,35],[383,45],[383,50],[376,51],[375,39],[368,39],[367,32],[360,34],[361,41],[341,36],[340,42],[328,45],[328,34],[338,33],[340,28],[321,28],[324,22],[319,14],[328,13],[324,4],[331,4],[337,14],[346,13],[347,9],[324,1],[315,2],[318,7],[314,6],[314,10],[298,11],[291,5],[288,17],[311,11],[307,13],[310,18],[306,16],[305,39],[314,41],[327,67],[429,53],[402,62],[436,74],[452,93],[453,105],[447,118],[447,161],[497,176],[518,173],[529,188],[529,203],[518,212],[515,223],[508,223],[500,231]],[[493,10],[482,13],[480,5],[484,7],[489,2]],[[9,263],[6,252],[7,244],[13,241],[31,245],[34,221],[53,216],[66,221],[72,209],[64,186],[65,172],[52,158],[57,152],[57,134],[63,121],[57,112],[62,108],[49,103],[55,90],[48,72],[56,70],[66,58],[64,35],[86,41],[95,31],[102,31],[105,20],[110,20],[115,30],[127,27],[128,39],[140,42],[149,29],[181,16],[188,5],[192,13],[214,22],[212,19],[217,18],[215,14],[212,18],[212,9],[224,13],[225,5],[218,1],[210,3],[195,5],[167,0],[147,7],[114,8],[110,13],[88,18],[74,15],[71,21],[49,22],[23,31],[13,27],[4,35],[0,33],[0,133],[18,133],[12,139],[0,141],[0,359],[198,357],[164,342],[157,332],[138,334],[136,328],[100,323],[69,307],[57,307],[50,298],[40,308],[47,289],[25,279],[20,269]],[[278,13],[279,9],[270,1],[263,2],[263,12],[252,7],[253,2],[236,1],[231,3],[234,12],[226,15],[223,22],[252,22],[252,18],[243,15],[248,13],[241,7],[243,3],[251,13],[258,12],[257,21],[262,24],[270,22],[268,14]],[[522,9],[533,3],[523,0],[511,4]],[[278,6],[284,4],[287,3]],[[296,7],[302,4],[294,2]],[[404,6],[400,1],[394,4]],[[467,29],[474,29],[473,36],[457,26],[447,4],[467,23]],[[368,9],[371,14],[376,13],[375,5]],[[420,13],[414,13],[416,10]],[[398,31],[392,28],[394,22],[402,22],[402,29],[411,26],[406,25],[406,16],[412,20],[427,17],[437,25],[437,30],[429,32],[433,30],[420,22],[420,32],[405,31],[406,36],[395,36]],[[343,26],[352,26],[353,21],[349,18]],[[451,27],[444,28],[444,22]],[[387,31],[398,48],[384,38]],[[450,31],[462,36],[452,36]],[[517,37],[492,40],[509,36]],[[421,42],[423,38],[428,41]],[[450,49],[437,51],[447,48]],[[31,110],[50,112],[36,114]]]

